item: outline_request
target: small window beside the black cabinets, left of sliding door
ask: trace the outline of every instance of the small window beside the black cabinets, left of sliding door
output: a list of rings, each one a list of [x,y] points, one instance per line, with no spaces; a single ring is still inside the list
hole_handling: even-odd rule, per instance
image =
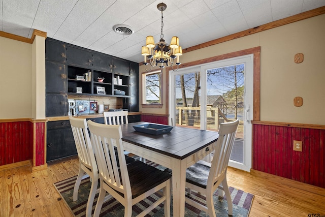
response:
[[[161,71],[142,74],[142,106],[161,108],[163,92]]]

